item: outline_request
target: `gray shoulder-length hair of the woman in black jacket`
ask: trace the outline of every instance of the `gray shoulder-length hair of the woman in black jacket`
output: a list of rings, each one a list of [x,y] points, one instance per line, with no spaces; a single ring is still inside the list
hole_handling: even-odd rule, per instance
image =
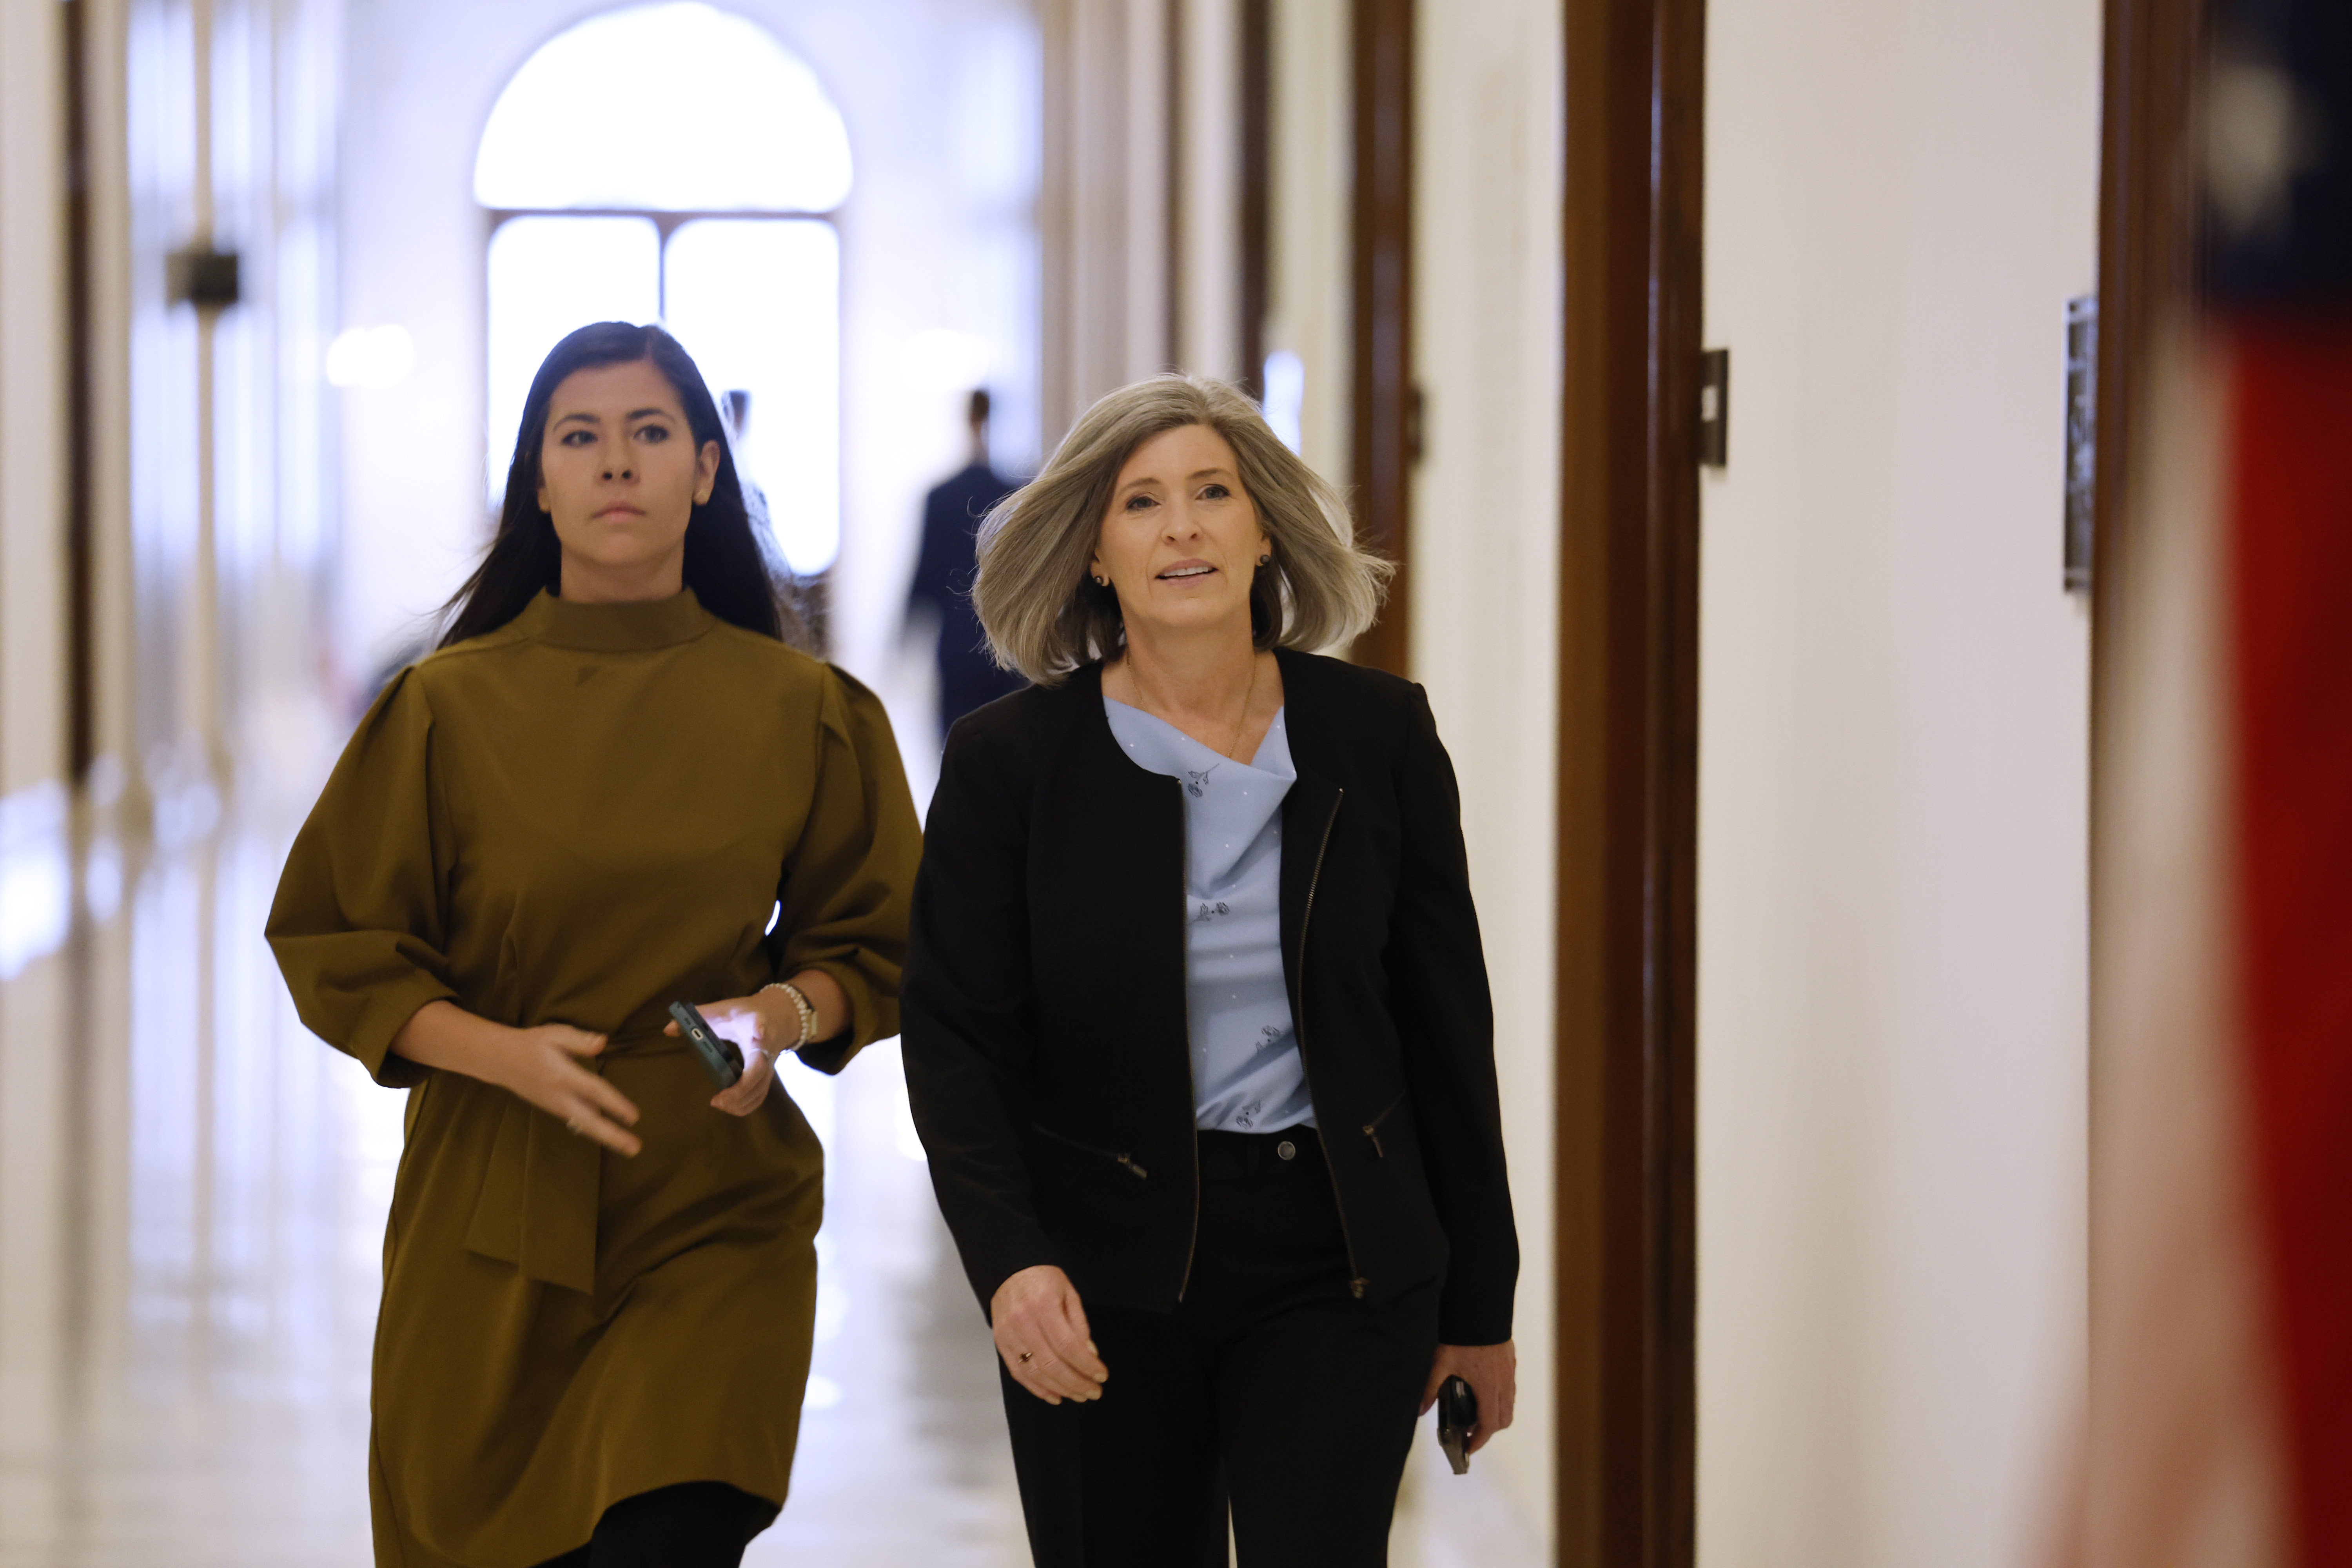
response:
[[[1207,425],[1225,437],[1242,494],[1258,510],[1272,564],[1249,588],[1261,649],[1327,649],[1381,614],[1395,562],[1355,543],[1348,503],[1298,461],[1258,404],[1228,381],[1152,376],[1087,409],[1044,473],[1000,501],[981,524],[971,607],[995,661],[1040,686],[1127,646],[1120,595],[1087,576],[1120,468],[1164,430]]]

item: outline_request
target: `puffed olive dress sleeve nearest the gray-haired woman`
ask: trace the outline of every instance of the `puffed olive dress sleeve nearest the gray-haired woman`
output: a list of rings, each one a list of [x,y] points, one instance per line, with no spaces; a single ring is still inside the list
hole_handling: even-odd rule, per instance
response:
[[[863,1046],[898,1032],[906,917],[922,860],[922,827],[906,790],[882,698],[828,672],[818,717],[816,799],[783,863],[776,976],[818,969],[849,997],[851,1025],[800,1058],[840,1072]]]

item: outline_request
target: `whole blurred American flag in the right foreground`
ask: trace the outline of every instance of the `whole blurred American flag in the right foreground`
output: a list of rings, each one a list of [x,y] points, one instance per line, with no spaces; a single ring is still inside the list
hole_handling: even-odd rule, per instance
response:
[[[2352,5],[2211,0],[2100,670],[2063,1561],[2352,1568]]]

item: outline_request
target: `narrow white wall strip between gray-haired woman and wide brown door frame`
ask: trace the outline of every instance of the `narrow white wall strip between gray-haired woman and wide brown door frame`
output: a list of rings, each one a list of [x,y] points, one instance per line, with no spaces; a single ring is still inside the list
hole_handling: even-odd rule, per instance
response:
[[[1421,7],[1411,675],[1463,785],[1519,1215],[1519,1418],[1479,1458],[1552,1533],[1552,865],[1559,665],[1559,7]]]

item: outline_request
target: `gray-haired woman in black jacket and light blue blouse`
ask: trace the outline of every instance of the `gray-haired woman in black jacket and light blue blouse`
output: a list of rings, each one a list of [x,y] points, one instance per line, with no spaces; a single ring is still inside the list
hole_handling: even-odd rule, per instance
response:
[[[903,1060],[1044,1568],[1374,1568],[1446,1378],[1510,1425],[1519,1244],[1454,764],[1312,649],[1388,564],[1221,381],[990,512],[1035,684],[948,733]],[[1181,893],[1169,898],[1169,893]]]

